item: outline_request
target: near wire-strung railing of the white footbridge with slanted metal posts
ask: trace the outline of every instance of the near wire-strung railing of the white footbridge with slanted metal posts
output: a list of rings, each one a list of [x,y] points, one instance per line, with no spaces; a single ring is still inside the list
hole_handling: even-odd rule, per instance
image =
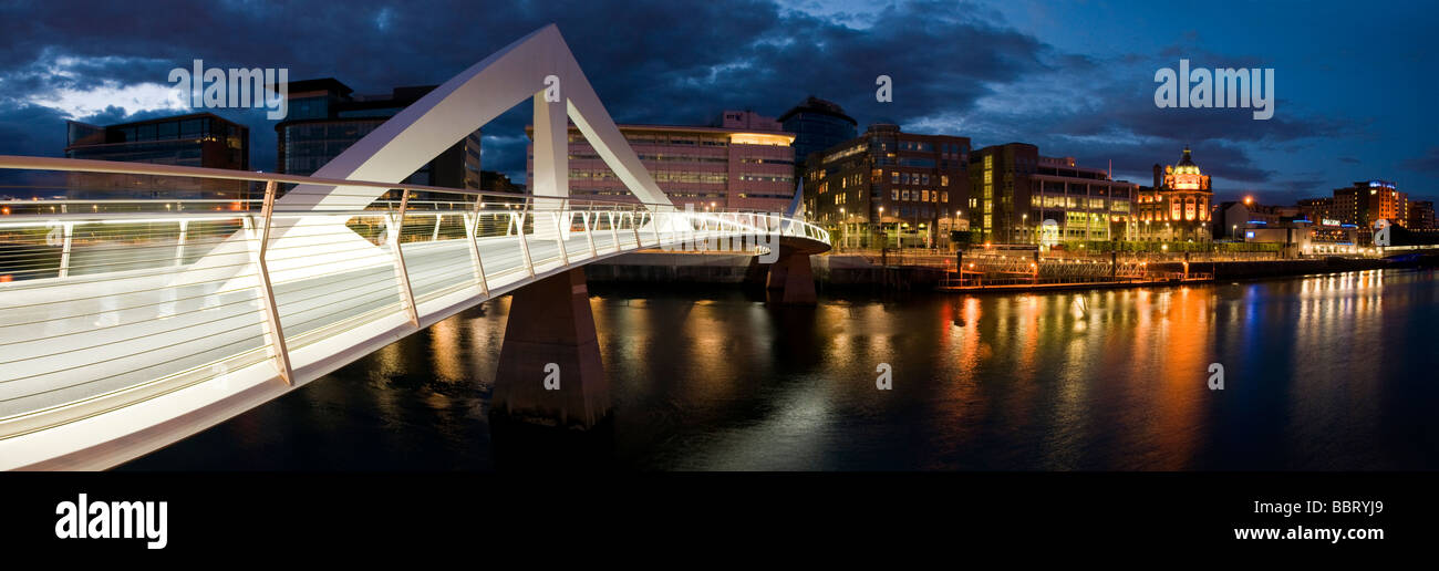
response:
[[[296,371],[534,279],[773,213],[0,157],[0,439],[236,371]],[[291,204],[301,186],[335,187]],[[374,196],[380,194],[380,198]],[[458,309],[456,309],[458,308]]]

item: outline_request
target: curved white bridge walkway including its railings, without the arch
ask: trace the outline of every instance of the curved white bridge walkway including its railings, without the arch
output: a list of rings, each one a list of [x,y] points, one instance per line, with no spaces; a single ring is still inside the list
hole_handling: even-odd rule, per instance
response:
[[[3,469],[117,465],[599,259],[718,246],[764,259],[829,245],[816,226],[750,211],[0,157],[0,168],[17,165],[226,177],[266,198],[12,206],[0,219]],[[389,200],[275,207],[304,184],[383,187]]]

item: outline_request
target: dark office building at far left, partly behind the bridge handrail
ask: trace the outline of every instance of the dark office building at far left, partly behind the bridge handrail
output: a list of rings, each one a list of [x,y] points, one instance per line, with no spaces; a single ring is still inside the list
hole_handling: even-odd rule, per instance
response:
[[[250,170],[250,129],[214,114],[189,114],[118,125],[66,122],[66,158]],[[207,209],[243,210],[248,184],[134,174],[69,173],[71,198],[189,198]],[[222,203],[232,200],[233,203]]]

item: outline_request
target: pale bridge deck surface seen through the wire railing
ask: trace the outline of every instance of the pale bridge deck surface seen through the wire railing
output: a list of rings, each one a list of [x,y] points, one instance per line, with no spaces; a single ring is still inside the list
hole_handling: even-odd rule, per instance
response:
[[[491,289],[530,278],[518,237],[478,242]],[[530,236],[528,242],[537,269],[558,266],[554,240]],[[622,249],[635,249],[633,234],[620,242]],[[596,233],[594,246],[600,255],[616,252],[609,233]],[[478,293],[465,240],[410,243],[403,252],[417,302],[459,288]],[[571,265],[591,257],[584,236],[571,236],[566,252]],[[214,364],[207,371],[213,375],[265,360],[255,272],[180,286],[167,286],[173,270],[125,273],[78,276],[63,285],[12,283],[6,298],[16,303],[0,308],[0,419],[196,367]],[[275,298],[291,350],[337,326],[364,328],[386,312],[404,311],[389,250],[381,249],[368,268],[276,283]],[[233,358],[240,361],[229,362]]]

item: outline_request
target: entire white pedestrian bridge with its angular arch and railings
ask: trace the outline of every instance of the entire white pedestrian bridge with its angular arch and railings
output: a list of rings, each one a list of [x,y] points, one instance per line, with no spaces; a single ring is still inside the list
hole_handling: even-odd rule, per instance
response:
[[[548,101],[545,76],[567,95]],[[531,96],[531,194],[400,183]],[[637,200],[567,196],[566,115]],[[829,249],[823,229],[781,213],[675,209],[554,26],[312,177],[0,157],[0,174],[17,173],[65,197],[7,201],[0,216],[0,469],[115,466],[594,260],[696,245],[761,257]],[[789,273],[809,279],[807,259]],[[577,279],[563,293],[583,299]]]

